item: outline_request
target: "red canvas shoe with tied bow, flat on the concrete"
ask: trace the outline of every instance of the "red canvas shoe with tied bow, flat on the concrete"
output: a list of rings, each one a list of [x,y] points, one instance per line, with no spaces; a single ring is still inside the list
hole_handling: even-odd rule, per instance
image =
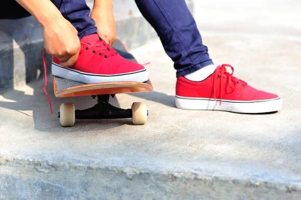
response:
[[[231,74],[227,72],[226,67],[231,67]],[[177,108],[237,113],[265,113],[282,108],[282,99],[279,96],[252,88],[246,82],[232,76],[233,71],[232,66],[224,64],[200,82],[178,78]]]

